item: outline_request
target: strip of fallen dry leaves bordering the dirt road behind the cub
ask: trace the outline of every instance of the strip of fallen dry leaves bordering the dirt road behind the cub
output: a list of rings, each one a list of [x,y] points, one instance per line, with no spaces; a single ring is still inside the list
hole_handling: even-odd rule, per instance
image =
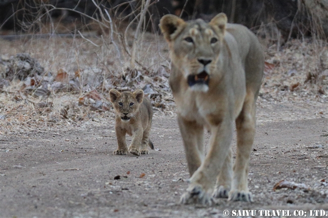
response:
[[[154,45],[153,41],[157,44],[139,48],[139,56],[145,58],[143,65],[134,68],[128,66],[128,60],[118,61],[111,50],[101,56],[103,48],[83,39],[64,40],[75,43],[79,49],[61,46],[56,39],[53,47],[47,40],[31,42],[30,46],[21,44],[25,53],[13,53],[20,41],[2,43],[0,123],[39,126],[103,122],[114,117],[108,99],[112,88],[143,89],[151,99],[155,116],[175,116],[167,45],[155,39],[155,35],[147,37],[144,45]],[[101,44],[101,40],[94,40]],[[45,47],[48,50],[42,50]],[[279,51],[276,44],[264,50],[265,71],[257,100],[257,122],[327,118],[327,43],[293,39]],[[56,58],[44,55],[46,51]],[[285,107],[292,113],[276,114],[277,107]]]

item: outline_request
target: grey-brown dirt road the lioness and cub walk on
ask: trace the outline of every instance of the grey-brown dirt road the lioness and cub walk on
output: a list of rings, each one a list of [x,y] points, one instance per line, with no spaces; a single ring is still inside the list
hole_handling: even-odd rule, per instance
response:
[[[106,122],[21,131],[8,126],[0,135],[1,217],[223,217],[225,209],[328,213],[325,118],[258,123],[249,173],[254,202],[219,199],[211,207],[178,203],[189,175],[175,117],[154,117],[155,150],[140,157],[113,155],[114,121]],[[281,180],[310,190],[272,191]]]

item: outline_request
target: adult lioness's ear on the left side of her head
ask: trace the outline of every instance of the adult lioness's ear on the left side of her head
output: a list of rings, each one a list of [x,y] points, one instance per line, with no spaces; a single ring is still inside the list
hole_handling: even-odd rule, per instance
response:
[[[159,21],[159,28],[168,42],[171,42],[185,26],[186,22],[175,15],[165,15]]]

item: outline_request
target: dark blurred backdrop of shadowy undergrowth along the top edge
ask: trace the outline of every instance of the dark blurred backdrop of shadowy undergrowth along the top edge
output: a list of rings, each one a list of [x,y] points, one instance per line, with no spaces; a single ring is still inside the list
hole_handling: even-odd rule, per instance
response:
[[[94,2],[96,4],[94,4]],[[94,30],[87,25],[100,10],[108,10],[116,21],[126,25],[135,21],[145,0],[1,0],[1,35],[39,30],[47,22],[60,22],[57,33]],[[97,8],[95,5],[98,5]],[[65,10],[66,9],[66,10]],[[217,13],[227,14],[230,23],[243,24],[262,37],[277,35],[283,40],[328,36],[328,1],[305,0],[151,0],[142,28],[158,32],[159,19],[174,14],[185,20],[210,20]],[[136,18],[137,17],[137,18]],[[136,19],[135,19],[136,18]],[[74,24],[74,25],[72,25]],[[74,27],[73,27],[74,26]],[[11,31],[8,31],[11,30]],[[268,33],[268,31],[269,33]]]

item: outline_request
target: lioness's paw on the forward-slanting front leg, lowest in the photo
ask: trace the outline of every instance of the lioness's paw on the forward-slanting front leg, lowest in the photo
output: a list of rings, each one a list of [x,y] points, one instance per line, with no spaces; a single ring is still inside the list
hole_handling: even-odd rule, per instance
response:
[[[213,202],[213,198],[200,185],[189,186],[180,198],[182,204],[200,203],[211,206]]]

